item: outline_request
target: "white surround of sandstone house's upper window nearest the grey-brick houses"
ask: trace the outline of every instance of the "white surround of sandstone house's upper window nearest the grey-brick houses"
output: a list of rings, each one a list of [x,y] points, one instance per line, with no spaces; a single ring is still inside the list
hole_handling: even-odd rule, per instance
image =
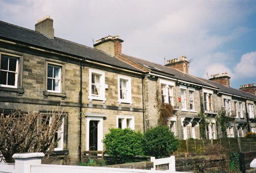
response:
[[[118,105],[121,105],[121,103],[129,103],[130,106],[132,106],[132,79],[128,76],[122,76],[122,75],[118,75],[117,76],[117,80],[118,80]],[[120,98],[120,80],[126,80],[126,87],[127,87],[127,93],[126,93],[126,99],[121,99]]]

